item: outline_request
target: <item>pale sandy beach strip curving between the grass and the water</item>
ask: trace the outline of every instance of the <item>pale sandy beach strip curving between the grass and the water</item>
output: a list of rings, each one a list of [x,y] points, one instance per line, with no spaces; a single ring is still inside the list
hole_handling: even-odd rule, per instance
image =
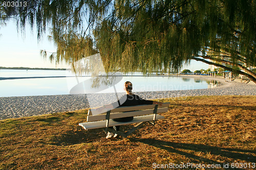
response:
[[[241,83],[240,79],[225,82],[224,78],[182,75],[184,78],[216,80],[221,83],[216,88],[174,91],[134,92],[143,99],[175,98],[200,95],[256,95],[256,84]],[[118,93],[118,96],[124,93]],[[42,115],[63,111],[74,111],[112,103],[116,99],[113,93],[16,96],[0,98],[0,119]]]

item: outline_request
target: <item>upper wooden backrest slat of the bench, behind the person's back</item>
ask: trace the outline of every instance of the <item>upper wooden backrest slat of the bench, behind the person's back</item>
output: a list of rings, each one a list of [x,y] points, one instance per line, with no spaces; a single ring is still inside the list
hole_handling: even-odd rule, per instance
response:
[[[162,106],[158,105],[158,108],[162,108],[162,107],[168,107],[170,105],[170,103],[163,103]],[[111,110],[111,113],[115,113],[115,112],[127,112],[127,111],[134,111],[134,110],[145,110],[145,109],[154,109],[156,105],[138,105],[138,106],[124,106],[124,107],[118,107],[115,109]],[[96,109],[90,109],[88,112],[88,115],[97,115],[99,113],[97,113],[97,111],[95,111]],[[107,109],[105,110],[108,111]]]

